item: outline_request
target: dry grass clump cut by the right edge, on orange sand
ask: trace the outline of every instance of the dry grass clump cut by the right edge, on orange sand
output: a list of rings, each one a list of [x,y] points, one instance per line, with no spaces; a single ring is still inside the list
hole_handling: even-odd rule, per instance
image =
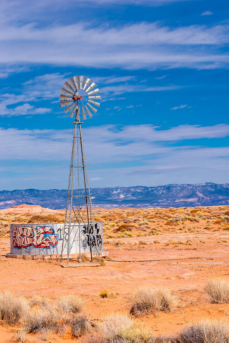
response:
[[[205,292],[215,304],[229,303],[229,281],[216,278],[205,285]]]

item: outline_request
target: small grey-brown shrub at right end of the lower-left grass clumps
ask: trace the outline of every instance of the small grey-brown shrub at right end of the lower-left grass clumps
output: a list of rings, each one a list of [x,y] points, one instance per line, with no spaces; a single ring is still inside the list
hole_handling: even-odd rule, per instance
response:
[[[88,334],[92,331],[92,327],[95,326],[86,316],[76,316],[68,324],[70,325],[72,336],[75,338]]]

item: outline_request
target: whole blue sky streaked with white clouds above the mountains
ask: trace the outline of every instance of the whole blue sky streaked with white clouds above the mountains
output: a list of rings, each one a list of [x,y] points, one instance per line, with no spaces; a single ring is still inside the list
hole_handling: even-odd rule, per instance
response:
[[[82,124],[91,187],[226,183],[229,3],[0,1],[0,189],[66,189],[59,90],[99,85]]]

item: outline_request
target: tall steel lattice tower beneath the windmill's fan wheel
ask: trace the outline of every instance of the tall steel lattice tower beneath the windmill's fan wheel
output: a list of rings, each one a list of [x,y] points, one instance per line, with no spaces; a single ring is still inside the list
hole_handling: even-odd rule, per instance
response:
[[[77,111],[76,111],[77,113]],[[77,117],[77,115],[76,115]],[[72,141],[72,153],[71,153],[71,164],[70,164],[70,173],[69,173],[69,182],[68,182],[68,195],[67,195],[67,204],[65,212],[65,224],[64,224],[64,234],[63,234],[63,243],[61,250],[61,259],[64,248],[67,246],[67,265],[69,261],[69,253],[73,241],[75,240],[77,234],[79,235],[79,249],[80,249],[80,230],[84,226],[87,228],[87,234],[89,237],[89,247],[91,253],[91,262],[92,262],[92,245],[95,244],[96,250],[99,256],[98,242],[96,237],[92,235],[92,232],[95,232],[93,210],[91,204],[91,193],[88,181],[88,172],[87,166],[85,163],[85,155],[83,148],[83,139],[81,132],[80,120],[75,119],[74,129],[73,129],[73,141]],[[75,226],[78,226],[78,230],[75,235],[72,235]],[[70,232],[70,234],[69,234]],[[67,239],[65,240],[65,237]],[[72,237],[72,238],[71,238]],[[81,251],[79,250],[79,256],[81,257]],[[100,256],[99,256],[100,260]]]

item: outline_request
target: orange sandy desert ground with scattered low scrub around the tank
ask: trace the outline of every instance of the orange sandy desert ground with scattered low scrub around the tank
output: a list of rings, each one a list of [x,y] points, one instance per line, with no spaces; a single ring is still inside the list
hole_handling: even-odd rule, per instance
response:
[[[104,250],[109,256],[99,267],[61,268],[58,260],[6,258],[10,252],[9,224],[63,222],[64,211],[21,205],[0,210],[0,291],[39,296],[48,302],[64,295],[79,295],[82,315],[99,326],[111,313],[129,314],[139,286],[168,287],[177,303],[168,312],[151,311],[133,316],[152,336],[168,336],[202,318],[228,319],[229,303],[214,303],[207,282],[229,280],[229,206],[150,209],[94,209],[103,222]],[[101,292],[107,289],[108,297]],[[43,298],[44,297],[44,298]],[[31,301],[30,301],[31,303]],[[42,307],[31,305],[31,311]],[[18,342],[14,326],[0,322],[0,342]],[[92,329],[93,335],[98,329]],[[84,342],[67,331],[50,333],[48,342]],[[28,333],[24,342],[45,342]]]

